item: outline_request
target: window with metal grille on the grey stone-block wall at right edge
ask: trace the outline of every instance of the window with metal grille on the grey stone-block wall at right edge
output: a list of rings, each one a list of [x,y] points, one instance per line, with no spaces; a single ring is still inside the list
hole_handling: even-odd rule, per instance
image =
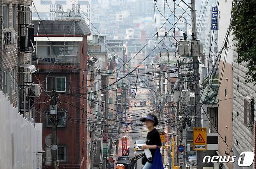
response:
[[[247,96],[244,99],[244,125],[252,127],[254,124],[254,97]]]

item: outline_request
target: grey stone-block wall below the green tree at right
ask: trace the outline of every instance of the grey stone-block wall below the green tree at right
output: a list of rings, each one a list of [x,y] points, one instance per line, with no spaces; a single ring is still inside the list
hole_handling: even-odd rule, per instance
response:
[[[236,48],[234,48],[236,50]],[[244,125],[244,98],[251,95],[256,98],[256,88],[252,83],[245,84],[246,63],[237,63],[237,53],[233,61],[233,147],[241,153],[254,150],[253,128]],[[237,77],[239,79],[237,88]],[[249,94],[253,93],[253,94]],[[255,113],[254,113],[255,118]],[[255,125],[255,124],[254,124]]]

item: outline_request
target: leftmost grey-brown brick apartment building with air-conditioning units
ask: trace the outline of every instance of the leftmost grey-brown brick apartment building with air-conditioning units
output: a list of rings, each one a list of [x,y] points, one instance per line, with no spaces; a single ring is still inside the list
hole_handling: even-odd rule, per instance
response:
[[[1,64],[0,89],[19,112],[30,119],[33,100],[29,98],[31,74],[35,66],[30,64],[33,48],[31,0],[1,0]],[[26,86],[25,86],[26,85]],[[25,97],[23,97],[25,96]],[[24,99],[25,98],[25,99]],[[25,103],[24,103],[24,100]],[[31,101],[30,107],[28,103]],[[25,105],[25,109],[23,109]]]

